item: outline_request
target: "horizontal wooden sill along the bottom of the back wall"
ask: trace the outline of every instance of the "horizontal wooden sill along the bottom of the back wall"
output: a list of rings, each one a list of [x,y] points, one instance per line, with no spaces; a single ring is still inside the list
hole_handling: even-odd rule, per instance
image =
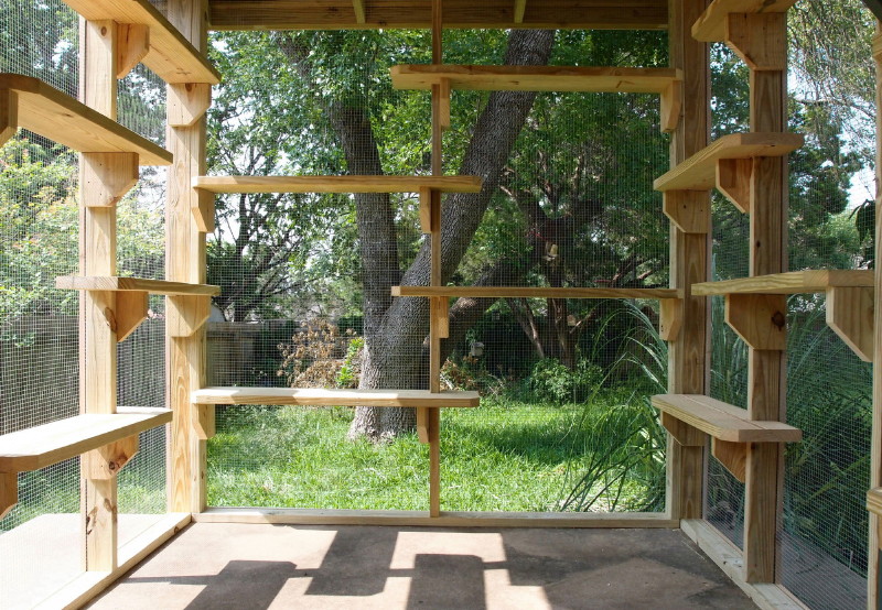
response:
[[[195,523],[279,523],[299,525],[399,525],[415,527],[677,527],[665,513],[530,513],[353,511],[211,508]]]

